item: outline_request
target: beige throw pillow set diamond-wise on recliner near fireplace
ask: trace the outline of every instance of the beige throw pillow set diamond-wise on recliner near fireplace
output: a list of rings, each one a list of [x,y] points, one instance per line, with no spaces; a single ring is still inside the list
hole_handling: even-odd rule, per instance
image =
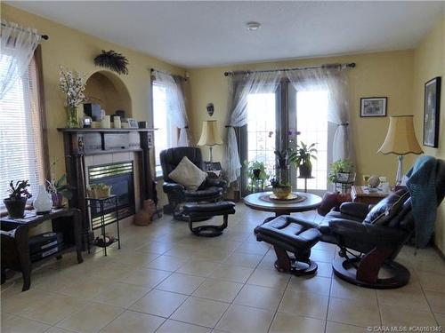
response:
[[[200,170],[187,156],[184,156],[168,177],[176,183],[185,186],[188,190],[196,191],[206,180],[207,173]]]

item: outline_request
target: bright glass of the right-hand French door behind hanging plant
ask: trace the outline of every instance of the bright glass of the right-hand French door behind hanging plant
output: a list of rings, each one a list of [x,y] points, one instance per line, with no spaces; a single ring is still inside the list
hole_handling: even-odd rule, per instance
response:
[[[316,120],[316,121],[315,121]],[[296,92],[296,126],[301,132],[298,143],[317,143],[317,160],[312,160],[312,179],[307,188],[326,190],[328,185],[328,91]],[[304,179],[297,179],[297,188],[304,188]]]

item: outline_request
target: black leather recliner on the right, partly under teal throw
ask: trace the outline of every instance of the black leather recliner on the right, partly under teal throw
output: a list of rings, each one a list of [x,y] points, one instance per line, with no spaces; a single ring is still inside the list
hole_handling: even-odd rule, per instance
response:
[[[437,204],[445,196],[445,162],[435,170]],[[296,224],[317,227],[322,242],[340,247],[333,262],[341,279],[373,289],[399,288],[409,282],[409,270],[394,261],[402,246],[414,235],[415,222],[408,189],[390,194],[376,205],[344,202],[320,225],[292,218]],[[386,277],[379,277],[379,273]]]

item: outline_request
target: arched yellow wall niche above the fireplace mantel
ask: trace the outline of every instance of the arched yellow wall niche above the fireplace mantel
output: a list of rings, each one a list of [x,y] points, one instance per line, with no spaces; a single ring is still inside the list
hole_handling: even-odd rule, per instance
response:
[[[132,99],[125,83],[119,76],[107,70],[94,72],[86,80],[85,97],[88,103],[100,104],[106,115],[125,110],[126,117],[132,117]]]

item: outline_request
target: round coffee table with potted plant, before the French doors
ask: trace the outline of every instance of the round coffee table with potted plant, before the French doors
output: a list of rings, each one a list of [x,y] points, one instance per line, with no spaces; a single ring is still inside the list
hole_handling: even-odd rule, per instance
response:
[[[244,198],[244,203],[253,210],[274,212],[276,217],[301,211],[316,210],[321,204],[320,196],[310,193],[293,192],[293,194],[303,197],[303,201],[265,200],[264,198],[270,194],[272,193],[259,192],[249,194]]]

